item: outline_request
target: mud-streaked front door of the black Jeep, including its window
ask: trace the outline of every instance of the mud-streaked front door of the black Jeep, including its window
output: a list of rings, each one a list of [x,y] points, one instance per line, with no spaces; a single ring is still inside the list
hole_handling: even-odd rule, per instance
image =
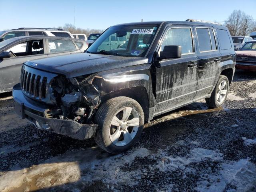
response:
[[[166,28],[158,54],[166,45],[181,45],[181,58],[163,59],[156,63],[155,115],[193,101],[196,95],[198,58],[192,26]]]

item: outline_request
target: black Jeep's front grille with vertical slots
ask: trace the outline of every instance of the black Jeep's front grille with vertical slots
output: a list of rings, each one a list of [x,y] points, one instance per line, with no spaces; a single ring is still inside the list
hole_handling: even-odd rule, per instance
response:
[[[22,92],[30,98],[46,102],[49,83],[55,76],[57,74],[23,65],[20,74],[20,87]]]

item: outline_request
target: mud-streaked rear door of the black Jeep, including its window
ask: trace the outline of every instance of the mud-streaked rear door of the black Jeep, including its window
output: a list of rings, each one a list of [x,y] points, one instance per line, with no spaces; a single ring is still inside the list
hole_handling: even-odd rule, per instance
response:
[[[216,31],[208,26],[194,26],[198,50],[198,84],[195,100],[211,94],[219,74],[221,54],[216,41]]]

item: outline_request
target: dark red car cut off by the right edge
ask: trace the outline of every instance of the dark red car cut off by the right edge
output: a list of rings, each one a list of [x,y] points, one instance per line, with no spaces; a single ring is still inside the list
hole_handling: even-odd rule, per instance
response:
[[[256,40],[246,42],[236,51],[236,68],[256,72]]]

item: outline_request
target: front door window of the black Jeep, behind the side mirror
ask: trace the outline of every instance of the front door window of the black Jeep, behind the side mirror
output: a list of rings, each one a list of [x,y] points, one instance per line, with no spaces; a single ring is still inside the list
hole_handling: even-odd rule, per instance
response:
[[[181,45],[182,54],[193,53],[193,41],[190,28],[169,29],[164,37],[161,50],[166,45]]]

